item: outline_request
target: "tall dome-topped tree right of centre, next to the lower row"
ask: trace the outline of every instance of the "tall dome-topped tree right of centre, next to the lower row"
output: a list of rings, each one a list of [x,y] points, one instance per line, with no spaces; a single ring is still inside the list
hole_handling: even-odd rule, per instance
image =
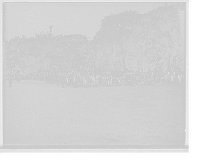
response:
[[[130,35],[130,28],[137,19],[136,11],[125,11],[119,14],[105,17],[102,22],[100,33],[103,33],[104,47],[110,47],[109,55],[111,67],[114,66],[115,55],[119,56],[119,63],[122,68],[126,69],[126,45],[125,40]],[[106,35],[106,36],[105,36]],[[105,58],[105,57],[104,57]]]

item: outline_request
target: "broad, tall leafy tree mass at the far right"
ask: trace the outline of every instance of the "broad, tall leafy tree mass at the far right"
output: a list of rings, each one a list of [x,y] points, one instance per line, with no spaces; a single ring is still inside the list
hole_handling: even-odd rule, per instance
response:
[[[164,6],[140,14],[131,32],[126,45],[139,69],[154,69],[156,63],[166,68],[169,60],[181,55],[178,8]]]

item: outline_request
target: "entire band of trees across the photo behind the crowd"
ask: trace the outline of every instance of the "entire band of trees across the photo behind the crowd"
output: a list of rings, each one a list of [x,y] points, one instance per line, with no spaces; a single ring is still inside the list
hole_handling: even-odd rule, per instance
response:
[[[102,19],[101,29],[88,42],[83,35],[53,36],[52,31],[34,37],[3,40],[4,77],[19,69],[33,71],[72,68],[80,63],[104,70],[118,62],[122,71],[170,69],[175,61],[183,68],[180,9],[164,6],[145,14],[125,11]]]

